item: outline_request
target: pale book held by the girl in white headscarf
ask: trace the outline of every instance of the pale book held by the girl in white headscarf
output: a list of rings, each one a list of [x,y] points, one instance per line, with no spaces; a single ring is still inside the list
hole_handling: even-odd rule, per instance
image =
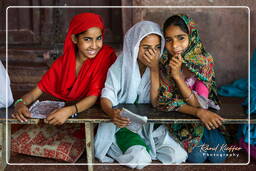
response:
[[[126,128],[134,133],[138,133],[138,131],[142,128],[142,126],[146,124],[148,121],[148,118],[146,116],[137,115],[126,108],[122,109],[120,115],[122,117],[126,117],[130,119],[131,123]]]

